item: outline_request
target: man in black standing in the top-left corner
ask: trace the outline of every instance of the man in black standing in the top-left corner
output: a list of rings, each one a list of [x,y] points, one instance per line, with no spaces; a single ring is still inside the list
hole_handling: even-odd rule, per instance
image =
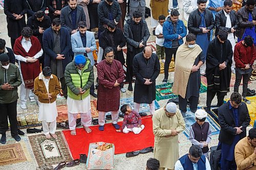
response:
[[[27,2],[24,0],[6,0],[4,12],[6,14],[8,36],[11,38],[13,49],[15,40],[20,36],[23,27],[26,27]]]

